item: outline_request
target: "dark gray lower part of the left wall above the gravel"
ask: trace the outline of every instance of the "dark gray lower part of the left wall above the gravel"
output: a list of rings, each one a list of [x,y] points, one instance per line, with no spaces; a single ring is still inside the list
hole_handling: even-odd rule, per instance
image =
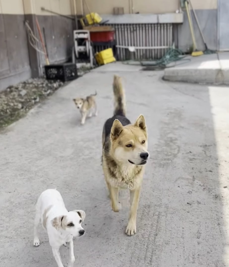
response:
[[[45,29],[49,62],[65,62],[70,59],[74,21],[52,15],[38,15],[37,18],[42,35],[43,28]],[[39,76],[40,66],[45,65],[44,55],[37,53],[28,44],[25,19],[39,38],[35,15],[0,14],[0,91],[31,76]]]

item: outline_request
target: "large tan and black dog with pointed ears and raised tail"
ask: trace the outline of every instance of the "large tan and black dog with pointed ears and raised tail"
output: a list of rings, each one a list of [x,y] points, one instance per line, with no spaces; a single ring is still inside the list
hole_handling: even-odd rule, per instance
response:
[[[102,133],[102,166],[109,189],[111,207],[119,211],[119,189],[130,190],[129,221],[125,233],[136,233],[136,216],[144,168],[149,158],[147,128],[143,115],[134,124],[125,116],[125,93],[121,78],[114,76],[114,116]]]

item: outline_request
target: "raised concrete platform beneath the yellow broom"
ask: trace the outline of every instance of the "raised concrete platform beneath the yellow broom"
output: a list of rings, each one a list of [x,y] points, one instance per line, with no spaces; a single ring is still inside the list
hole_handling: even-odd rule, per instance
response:
[[[174,66],[174,63],[170,65]],[[165,69],[164,78],[168,81],[229,84],[229,52],[187,56],[177,61],[173,68]]]

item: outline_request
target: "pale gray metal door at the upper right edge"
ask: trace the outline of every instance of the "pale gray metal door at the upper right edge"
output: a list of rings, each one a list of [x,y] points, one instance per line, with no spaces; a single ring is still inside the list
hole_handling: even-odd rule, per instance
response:
[[[218,50],[229,51],[229,0],[218,0]]]

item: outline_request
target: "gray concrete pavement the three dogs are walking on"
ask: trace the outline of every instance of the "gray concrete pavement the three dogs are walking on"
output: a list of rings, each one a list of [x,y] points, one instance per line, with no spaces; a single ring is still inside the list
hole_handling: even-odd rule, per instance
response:
[[[127,113],[144,114],[151,159],[137,233],[125,235],[128,194],[111,211],[101,133],[113,112],[113,74],[124,77]],[[86,211],[75,266],[229,266],[229,90],[169,83],[163,72],[109,64],[85,74],[0,134],[0,265],[56,266],[47,234],[33,247],[34,205],[57,188],[66,207]],[[72,98],[98,92],[98,117],[80,126]],[[66,263],[66,248],[61,248]]]

